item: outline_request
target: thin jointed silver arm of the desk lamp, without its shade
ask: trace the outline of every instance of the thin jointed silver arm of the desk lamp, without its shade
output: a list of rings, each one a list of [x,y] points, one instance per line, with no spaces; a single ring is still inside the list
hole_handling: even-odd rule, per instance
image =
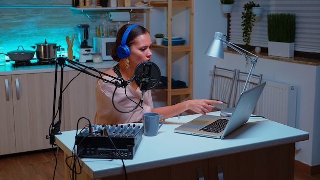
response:
[[[243,92],[247,91],[248,88],[249,88],[249,83],[250,83],[250,81],[251,81],[252,75],[254,74],[255,66],[256,66],[256,63],[257,63],[257,60],[258,60],[258,56],[255,55],[255,54],[253,54],[253,53],[251,53],[251,52],[249,52],[249,51],[247,51],[247,50],[245,50],[245,49],[243,49],[243,48],[241,48],[241,47],[239,47],[239,46],[237,46],[236,44],[234,44],[234,43],[232,43],[232,42],[229,42],[229,41],[224,40],[224,39],[222,39],[222,38],[221,38],[220,40],[221,40],[222,42],[224,42],[228,47],[230,47],[230,48],[232,48],[233,50],[237,51],[238,53],[242,54],[244,57],[249,58],[250,61],[251,61],[251,68],[250,68],[250,71],[249,71],[249,73],[248,73],[247,79],[246,79],[246,81],[245,81],[245,83],[244,83],[244,87],[243,87],[243,90],[242,90],[242,93],[243,93]],[[254,56],[254,58],[248,56],[247,54],[243,53],[243,52],[240,51],[240,50],[242,50],[242,51],[244,51],[244,52],[246,52],[246,53]]]

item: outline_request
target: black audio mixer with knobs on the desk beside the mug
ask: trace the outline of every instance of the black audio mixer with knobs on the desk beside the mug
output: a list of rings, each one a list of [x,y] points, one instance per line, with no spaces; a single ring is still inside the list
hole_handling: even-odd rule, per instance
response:
[[[91,125],[76,136],[77,152],[81,158],[133,159],[142,139],[144,126]],[[111,141],[112,142],[111,142]]]

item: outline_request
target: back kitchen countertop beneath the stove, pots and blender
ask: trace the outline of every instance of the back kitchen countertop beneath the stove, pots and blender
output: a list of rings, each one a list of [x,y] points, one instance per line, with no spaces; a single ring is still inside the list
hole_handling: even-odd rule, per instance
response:
[[[33,65],[33,66],[20,66],[14,68],[12,66],[14,61],[6,62],[6,65],[0,65],[0,75],[15,75],[15,74],[31,74],[31,73],[49,73],[55,72],[55,65]],[[117,64],[116,61],[103,61],[102,63],[93,63],[93,62],[86,62],[81,63],[86,66],[92,66],[95,69],[103,69],[103,68],[111,68]],[[61,68],[58,67],[58,71]],[[63,71],[75,71],[71,68],[64,68]]]

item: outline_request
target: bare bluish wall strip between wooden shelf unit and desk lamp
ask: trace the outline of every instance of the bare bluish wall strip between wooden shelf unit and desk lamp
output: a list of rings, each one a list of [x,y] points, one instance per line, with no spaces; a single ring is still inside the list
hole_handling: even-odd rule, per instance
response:
[[[194,1],[194,99],[208,99],[211,87],[210,71],[213,58],[204,55],[214,33],[226,34],[227,16],[221,12],[220,1]]]

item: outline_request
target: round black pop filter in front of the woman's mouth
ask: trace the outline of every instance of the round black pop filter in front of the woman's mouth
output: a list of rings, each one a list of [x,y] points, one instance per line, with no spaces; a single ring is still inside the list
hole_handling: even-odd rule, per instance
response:
[[[160,78],[159,67],[151,61],[141,62],[134,70],[134,81],[142,92],[154,88],[159,83]]]

